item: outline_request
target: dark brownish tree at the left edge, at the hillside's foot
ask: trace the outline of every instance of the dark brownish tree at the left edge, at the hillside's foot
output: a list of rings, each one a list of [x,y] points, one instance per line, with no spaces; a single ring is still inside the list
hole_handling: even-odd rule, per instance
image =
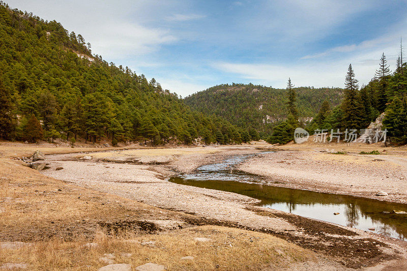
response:
[[[12,109],[10,91],[0,79],[0,138],[8,139],[15,129]]]

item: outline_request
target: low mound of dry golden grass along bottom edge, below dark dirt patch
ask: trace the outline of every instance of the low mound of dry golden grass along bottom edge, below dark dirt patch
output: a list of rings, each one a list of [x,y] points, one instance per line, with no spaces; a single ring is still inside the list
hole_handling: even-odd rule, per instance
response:
[[[207,237],[209,242],[196,242]],[[142,245],[154,241],[152,246]],[[83,239],[63,242],[53,239],[17,250],[0,253],[0,262],[27,263],[32,270],[95,270],[105,263],[99,260],[113,253],[117,263],[132,267],[154,262],[168,270],[259,270],[283,269],[303,261],[314,261],[312,252],[289,244],[269,234],[218,226],[200,226],[163,234],[143,236],[108,236],[100,232],[86,248]],[[131,253],[126,257],[123,253]],[[192,256],[193,260],[181,260]]]

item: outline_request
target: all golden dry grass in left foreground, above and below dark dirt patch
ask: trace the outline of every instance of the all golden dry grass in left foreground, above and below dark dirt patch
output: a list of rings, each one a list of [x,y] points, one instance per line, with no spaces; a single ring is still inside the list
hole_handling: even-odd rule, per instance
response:
[[[31,153],[32,149],[26,151]],[[200,226],[160,234],[135,230],[106,235],[98,225],[129,218],[197,219],[64,183],[22,162],[0,158],[0,242],[31,244],[15,250],[0,249],[0,266],[27,263],[30,270],[95,270],[106,265],[99,260],[105,253],[114,253],[115,262],[130,263],[133,268],[155,262],[168,270],[258,270],[314,260],[308,250],[265,233],[241,229]],[[194,237],[208,237],[211,241],[197,243]],[[143,240],[154,240],[156,244],[142,246]],[[89,242],[98,243],[98,247],[83,246]],[[195,259],[180,260],[183,256]]]

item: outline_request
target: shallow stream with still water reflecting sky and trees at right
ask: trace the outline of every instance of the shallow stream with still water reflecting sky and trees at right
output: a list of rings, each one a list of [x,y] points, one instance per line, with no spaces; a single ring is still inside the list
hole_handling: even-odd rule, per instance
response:
[[[392,214],[393,210],[407,210],[406,204],[265,185],[265,179],[233,168],[248,157],[231,157],[221,163],[199,167],[193,174],[173,177],[170,181],[246,195],[261,200],[261,206],[348,227],[370,229],[393,238],[403,240],[407,236],[407,215]]]

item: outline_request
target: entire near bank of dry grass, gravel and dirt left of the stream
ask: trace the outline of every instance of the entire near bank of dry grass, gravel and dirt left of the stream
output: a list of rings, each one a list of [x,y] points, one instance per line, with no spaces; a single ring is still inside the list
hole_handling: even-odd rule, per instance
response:
[[[52,147],[42,146],[47,154],[59,155],[48,156],[51,168],[41,173],[13,159],[27,157],[36,146],[3,146],[0,245],[15,241],[31,245],[0,253],[0,266],[23,262],[31,269],[94,270],[105,265],[100,259],[103,254],[114,253],[115,262],[130,263],[133,269],[146,262],[163,264],[169,270],[406,267],[405,242],[257,207],[253,205],[256,200],[242,195],[166,180],[230,155],[259,152],[256,148],[270,147],[267,144],[106,148],[107,152],[97,153],[92,152],[95,148],[53,152]],[[84,160],[85,156],[91,159]],[[162,221],[170,227],[161,227]],[[196,242],[194,237],[211,241]],[[265,243],[254,244],[257,239]],[[142,245],[151,240],[156,242],[153,246]],[[86,243],[99,245],[84,249]],[[22,257],[27,251],[35,256]],[[132,256],[118,256],[122,253]],[[48,254],[54,258],[44,257]],[[194,260],[186,263],[180,255]]]

